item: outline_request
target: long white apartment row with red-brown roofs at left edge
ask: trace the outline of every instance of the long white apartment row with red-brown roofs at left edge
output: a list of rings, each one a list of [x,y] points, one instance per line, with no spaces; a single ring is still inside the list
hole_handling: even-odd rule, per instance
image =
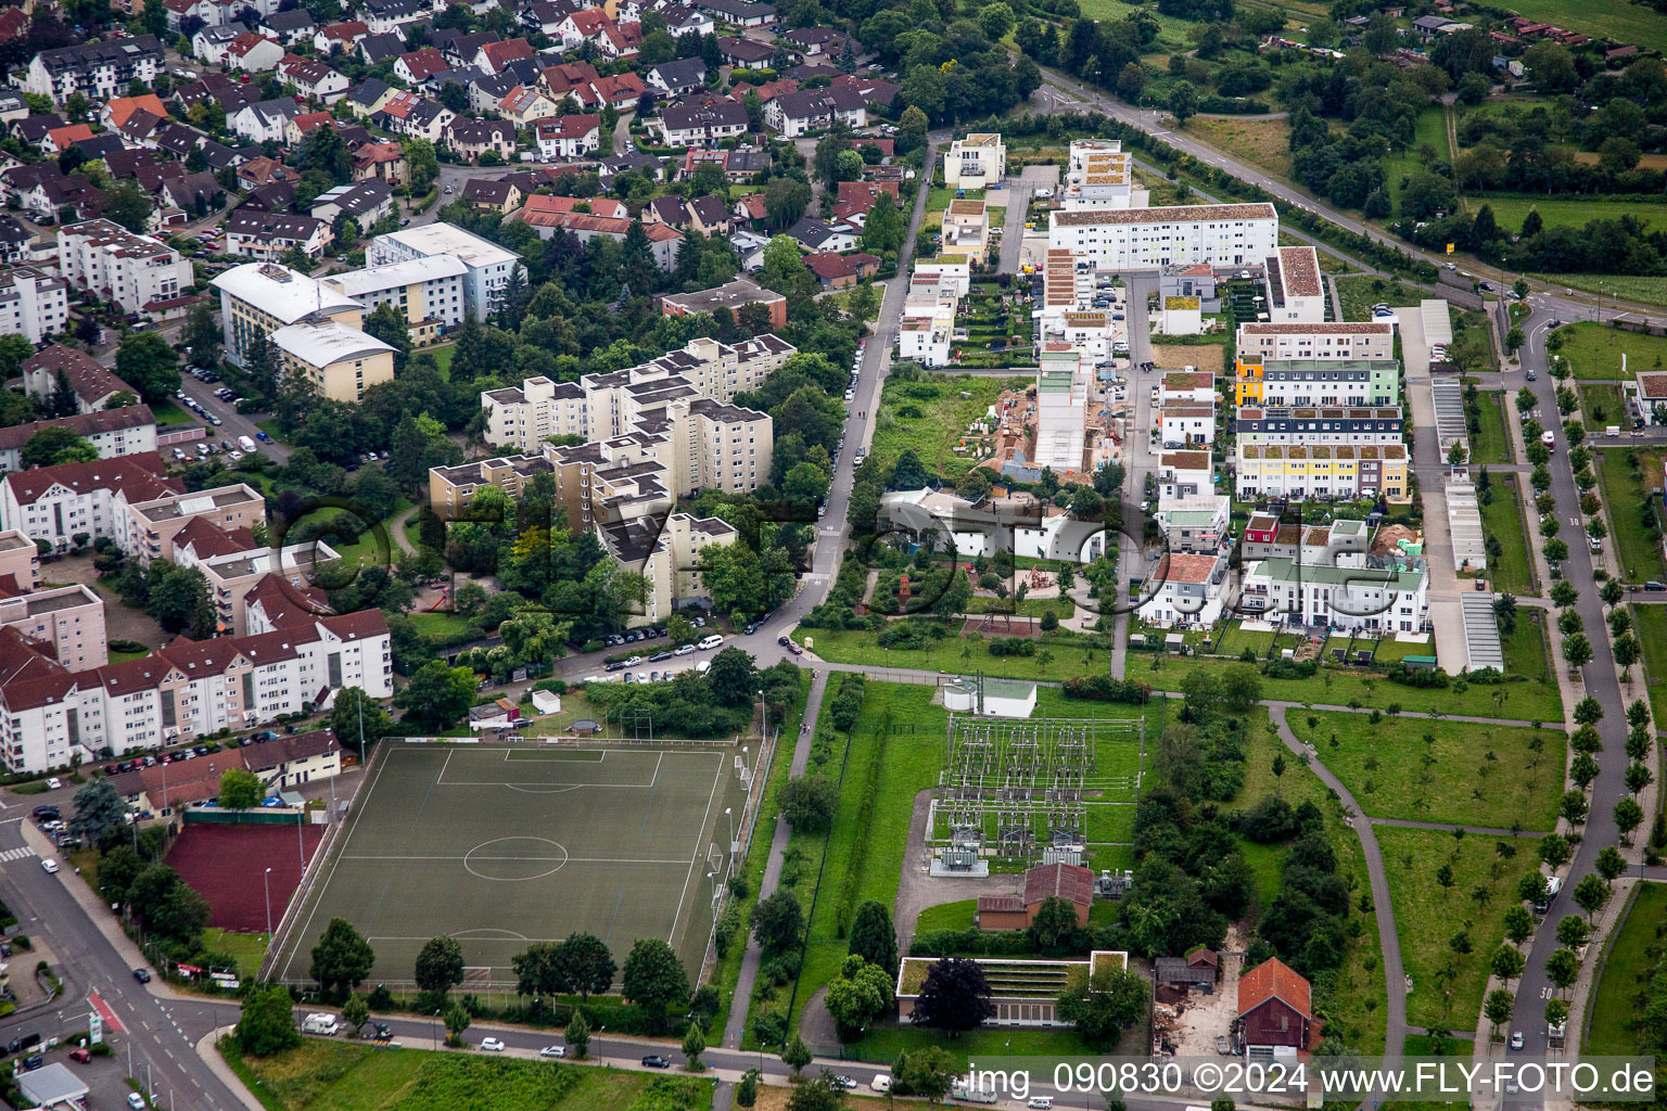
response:
[[[380,610],[308,616],[258,636],[178,638],[83,675],[0,628],[0,758],[12,771],[47,771],[105,748],[120,756],[328,708],[343,686],[393,695]]]

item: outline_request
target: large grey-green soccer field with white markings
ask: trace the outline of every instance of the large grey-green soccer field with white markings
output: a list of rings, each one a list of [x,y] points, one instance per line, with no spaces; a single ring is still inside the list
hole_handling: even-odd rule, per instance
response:
[[[617,961],[638,938],[662,938],[693,974],[742,815],[738,765],[733,746],[698,741],[390,743],[282,938],[275,976],[305,981],[332,918],[365,934],[372,978],[388,986],[410,983],[437,934],[462,943],[473,989],[513,988],[517,953],[575,931]]]

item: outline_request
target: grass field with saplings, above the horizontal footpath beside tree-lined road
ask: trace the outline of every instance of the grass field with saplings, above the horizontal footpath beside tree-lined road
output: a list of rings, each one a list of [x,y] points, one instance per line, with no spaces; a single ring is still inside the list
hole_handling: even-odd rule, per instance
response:
[[[1520,821],[1527,830],[1555,825],[1560,731],[1427,718],[1385,718],[1364,730],[1354,713],[1300,710],[1287,720],[1372,816],[1500,828]]]

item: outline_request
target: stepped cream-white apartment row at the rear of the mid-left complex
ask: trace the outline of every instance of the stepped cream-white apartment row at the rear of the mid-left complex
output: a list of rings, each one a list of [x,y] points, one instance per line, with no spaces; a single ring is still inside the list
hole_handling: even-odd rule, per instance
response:
[[[550,436],[608,440],[635,423],[642,406],[627,400],[635,386],[692,386],[698,396],[728,401],[762,386],[795,353],[795,346],[773,333],[733,346],[702,336],[623,371],[562,383],[540,376],[520,386],[487,390],[480,395],[480,408],[488,413],[487,441],[530,453]]]

